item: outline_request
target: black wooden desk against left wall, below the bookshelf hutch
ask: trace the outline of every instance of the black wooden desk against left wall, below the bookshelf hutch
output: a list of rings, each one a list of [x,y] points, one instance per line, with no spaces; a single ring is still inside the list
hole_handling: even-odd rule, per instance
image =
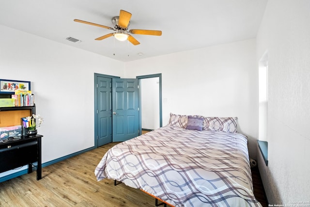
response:
[[[28,173],[32,173],[32,163],[37,162],[37,180],[42,178],[41,138],[22,137],[3,140],[0,143],[0,173],[28,164]]]

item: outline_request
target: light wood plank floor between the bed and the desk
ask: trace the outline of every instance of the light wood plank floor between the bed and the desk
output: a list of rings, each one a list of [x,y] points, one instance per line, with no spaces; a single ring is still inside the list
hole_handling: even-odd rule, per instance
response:
[[[41,180],[34,171],[0,183],[0,207],[155,207],[155,198],[138,189],[96,181],[96,165],[115,144],[44,167]]]

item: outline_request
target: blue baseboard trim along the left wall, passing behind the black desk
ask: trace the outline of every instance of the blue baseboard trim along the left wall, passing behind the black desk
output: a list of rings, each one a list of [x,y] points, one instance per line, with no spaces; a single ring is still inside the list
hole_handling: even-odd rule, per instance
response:
[[[65,160],[65,159],[69,159],[69,158],[72,158],[72,157],[75,157],[77,155],[80,155],[80,154],[83,154],[84,152],[88,152],[88,151],[91,151],[93,150],[95,147],[90,147],[90,148],[87,148],[87,149],[84,149],[84,150],[81,150],[81,151],[78,151],[78,152],[75,152],[75,153],[72,153],[70,155],[66,155],[64,157],[61,157],[61,158],[58,158],[58,159],[54,159],[54,160],[51,160],[51,161],[48,161],[48,162],[45,162],[45,163],[42,163],[42,168],[43,167],[46,167],[48,165],[51,165],[51,164],[55,164],[57,162],[60,162],[62,160]],[[35,167],[32,167],[32,170],[35,171],[36,168]],[[7,180],[10,180],[12,178],[15,178],[15,177],[18,177],[20,175],[25,175],[28,173],[28,169],[24,169],[24,170],[21,170],[21,171],[18,171],[16,173],[12,173],[10,175],[4,175],[2,177],[0,177],[0,182],[4,182],[4,181],[7,181]]]

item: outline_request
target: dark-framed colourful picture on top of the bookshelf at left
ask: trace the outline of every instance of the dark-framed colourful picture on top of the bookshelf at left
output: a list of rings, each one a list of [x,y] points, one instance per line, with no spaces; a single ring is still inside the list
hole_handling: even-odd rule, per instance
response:
[[[30,91],[30,81],[0,79],[0,94],[15,94],[16,90]]]

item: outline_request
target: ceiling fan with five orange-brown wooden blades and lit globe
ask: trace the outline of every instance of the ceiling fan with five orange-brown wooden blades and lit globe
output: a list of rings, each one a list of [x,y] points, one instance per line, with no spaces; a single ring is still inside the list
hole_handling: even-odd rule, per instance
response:
[[[110,36],[114,36],[117,40],[125,41],[128,39],[128,41],[131,42],[133,45],[139,45],[140,42],[138,40],[136,40],[129,33],[131,33],[131,34],[157,35],[157,36],[161,35],[161,31],[158,31],[158,30],[131,29],[131,30],[127,31],[128,26],[130,25],[130,18],[131,18],[131,14],[129,12],[121,10],[120,16],[114,16],[112,18],[112,24],[114,25],[113,28],[108,27],[108,26],[104,26],[104,25],[100,25],[100,24],[95,24],[95,23],[88,22],[88,21],[79,20],[79,19],[74,19],[74,21],[84,23],[84,24],[90,24],[90,25],[97,26],[97,27],[103,27],[103,28],[106,28],[108,30],[117,31],[117,32],[112,32],[112,33],[103,35],[101,37],[98,37],[95,40],[103,40],[103,39],[106,39]]]

